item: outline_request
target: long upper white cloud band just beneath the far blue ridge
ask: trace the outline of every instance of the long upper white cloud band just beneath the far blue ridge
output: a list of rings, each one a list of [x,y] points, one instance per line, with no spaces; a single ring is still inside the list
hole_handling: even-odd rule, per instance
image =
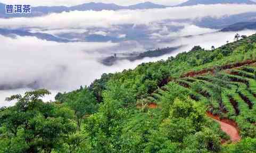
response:
[[[223,11],[225,10],[225,11]],[[195,19],[204,16],[220,18],[224,15],[240,14],[256,10],[256,5],[196,5],[150,10],[121,11],[73,11],[53,13],[36,18],[0,19],[2,28],[44,28],[44,29],[86,29],[93,27],[110,28],[120,24],[150,24],[163,20]]]

